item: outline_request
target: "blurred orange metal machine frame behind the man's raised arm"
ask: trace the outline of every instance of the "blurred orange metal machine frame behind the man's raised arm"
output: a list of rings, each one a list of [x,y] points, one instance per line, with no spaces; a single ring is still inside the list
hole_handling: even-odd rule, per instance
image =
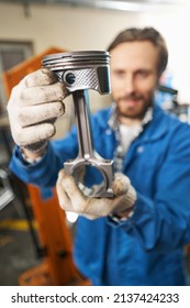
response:
[[[42,66],[41,61],[43,56],[60,52],[64,51],[54,47],[49,48],[4,72],[3,85],[7,97],[9,98],[11,89],[25,75]],[[15,180],[18,180],[18,191],[22,194],[23,187],[20,187],[19,179]],[[25,190],[29,194],[34,219],[38,226],[37,235],[40,243],[35,239],[35,244],[37,253],[43,260],[40,265],[24,272],[19,277],[19,284],[31,286],[89,285],[90,283],[80,275],[72,263],[72,239],[67,228],[65,212],[59,207],[55,188],[51,191],[51,196],[45,199],[42,197],[41,190],[32,185],[26,185]],[[34,237],[34,232],[32,235]]]

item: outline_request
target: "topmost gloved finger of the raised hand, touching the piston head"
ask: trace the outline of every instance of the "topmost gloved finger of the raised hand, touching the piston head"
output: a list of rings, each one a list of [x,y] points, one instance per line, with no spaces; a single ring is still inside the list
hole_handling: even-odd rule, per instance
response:
[[[47,68],[37,69],[25,76],[20,86],[22,88],[47,86],[57,81],[56,75]]]

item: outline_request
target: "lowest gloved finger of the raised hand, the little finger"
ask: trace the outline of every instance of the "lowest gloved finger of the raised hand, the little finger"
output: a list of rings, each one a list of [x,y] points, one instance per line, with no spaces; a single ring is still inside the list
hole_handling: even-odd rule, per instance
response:
[[[47,140],[55,134],[55,127],[52,123],[43,123],[34,127],[20,129],[12,132],[13,139],[20,146],[26,146],[40,141]]]

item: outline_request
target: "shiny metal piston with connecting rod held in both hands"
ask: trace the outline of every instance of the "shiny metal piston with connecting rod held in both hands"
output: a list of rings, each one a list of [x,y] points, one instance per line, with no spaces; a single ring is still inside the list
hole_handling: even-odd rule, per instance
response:
[[[97,168],[103,178],[99,189],[91,190],[92,197],[112,197],[113,161],[104,160],[93,147],[91,114],[88,89],[100,95],[110,94],[110,55],[101,51],[80,51],[47,55],[44,67],[53,70],[60,82],[72,94],[78,134],[78,155],[64,163],[67,174],[77,174],[81,166]],[[81,183],[80,186],[81,187]],[[101,189],[100,189],[101,187]]]

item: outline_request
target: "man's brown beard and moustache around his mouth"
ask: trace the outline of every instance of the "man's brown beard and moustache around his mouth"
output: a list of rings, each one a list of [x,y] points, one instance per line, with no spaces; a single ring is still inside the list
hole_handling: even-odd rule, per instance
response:
[[[114,100],[116,103],[116,113],[122,118],[142,120],[147,109],[153,106],[154,95],[145,99],[144,96],[131,94]]]

